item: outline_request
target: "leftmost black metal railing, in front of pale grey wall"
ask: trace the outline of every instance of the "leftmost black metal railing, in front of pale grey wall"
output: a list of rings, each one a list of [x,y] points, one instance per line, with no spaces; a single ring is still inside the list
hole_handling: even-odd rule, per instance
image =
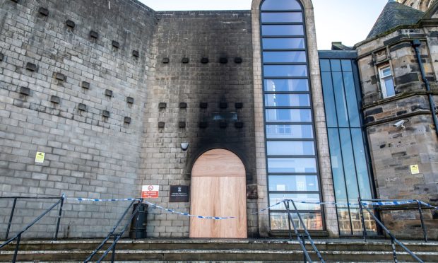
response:
[[[61,216],[62,216],[62,206],[64,204],[64,199],[65,199],[64,195],[62,197],[0,197],[0,199],[13,199],[11,216],[9,216],[8,229],[6,230],[6,241],[0,245],[0,250],[1,250],[3,247],[8,245],[13,240],[17,240],[16,241],[16,248],[13,252],[12,262],[14,262],[14,263],[16,262],[18,250],[20,249],[21,235],[23,235],[23,233],[25,233],[25,231],[27,231],[29,228],[31,228],[33,225],[35,225],[35,223],[40,221],[40,219],[43,218],[45,215],[47,215],[49,213],[49,211],[52,211],[58,204],[60,204],[59,214],[58,214],[58,219],[57,219],[57,230],[56,230],[56,233],[54,236],[54,240],[57,240],[58,232],[59,232],[59,223],[61,222]],[[16,209],[17,199],[59,199],[59,200],[56,203],[52,204],[52,206],[50,206],[49,209],[47,209],[42,214],[40,214],[40,216],[38,216],[32,222],[30,222],[28,224],[28,226],[25,226],[25,228],[23,228],[23,230],[20,230],[20,232],[18,232],[16,235],[14,235],[13,238],[8,239],[9,230],[11,229],[11,224],[12,224],[12,219],[13,219],[13,213]]]

